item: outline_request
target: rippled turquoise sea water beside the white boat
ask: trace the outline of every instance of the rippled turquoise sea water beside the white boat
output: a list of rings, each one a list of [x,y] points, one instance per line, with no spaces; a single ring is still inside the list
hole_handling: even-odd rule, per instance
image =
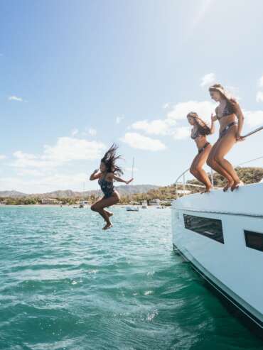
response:
[[[172,251],[170,209],[0,208],[0,349],[263,349]]]

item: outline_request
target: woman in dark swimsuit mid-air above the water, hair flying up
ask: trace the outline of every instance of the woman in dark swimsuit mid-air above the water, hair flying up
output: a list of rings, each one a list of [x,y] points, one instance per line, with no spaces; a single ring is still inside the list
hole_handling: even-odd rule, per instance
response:
[[[110,229],[112,227],[112,223],[109,220],[109,217],[112,217],[113,213],[106,210],[106,207],[110,207],[113,204],[117,204],[119,202],[119,193],[115,190],[113,185],[113,180],[124,182],[127,185],[129,182],[132,182],[133,179],[129,181],[125,181],[117,175],[122,175],[122,169],[116,165],[116,161],[120,158],[120,155],[117,155],[117,145],[112,145],[104,154],[100,162],[100,171],[95,170],[92,175],[90,175],[90,180],[99,180],[100,188],[104,194],[104,197],[99,199],[97,202],[92,204],[90,209],[94,212],[98,212],[106,222],[106,225],[103,227],[104,230]]]

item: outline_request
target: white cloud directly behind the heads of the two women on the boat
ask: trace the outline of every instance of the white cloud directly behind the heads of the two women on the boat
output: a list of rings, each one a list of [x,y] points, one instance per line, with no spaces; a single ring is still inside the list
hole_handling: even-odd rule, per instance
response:
[[[173,109],[168,113],[168,119],[173,120],[183,120],[186,119],[187,114],[190,111],[195,111],[200,118],[205,121],[210,121],[210,116],[212,113],[215,113],[215,107],[217,105],[214,102],[210,101],[188,101],[181,102],[173,106]]]

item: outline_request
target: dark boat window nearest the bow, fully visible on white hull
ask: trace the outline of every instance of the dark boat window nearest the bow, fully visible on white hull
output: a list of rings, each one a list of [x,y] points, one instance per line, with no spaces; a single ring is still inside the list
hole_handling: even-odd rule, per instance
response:
[[[188,214],[183,214],[183,219],[186,229],[224,244],[221,220],[210,219],[208,217],[195,217]]]

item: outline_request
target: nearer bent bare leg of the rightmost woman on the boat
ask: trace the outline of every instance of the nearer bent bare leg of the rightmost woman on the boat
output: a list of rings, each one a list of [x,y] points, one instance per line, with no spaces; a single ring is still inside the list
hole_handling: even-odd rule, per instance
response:
[[[225,155],[231,150],[231,148],[237,142],[235,135],[237,132],[237,127],[233,127],[227,131],[225,136],[221,138],[221,142],[218,145],[218,148],[215,153],[215,161],[228,173],[231,175],[234,183],[231,185],[231,190],[235,190],[240,184],[240,178],[237,176],[235,169],[232,164],[226,160]]]

